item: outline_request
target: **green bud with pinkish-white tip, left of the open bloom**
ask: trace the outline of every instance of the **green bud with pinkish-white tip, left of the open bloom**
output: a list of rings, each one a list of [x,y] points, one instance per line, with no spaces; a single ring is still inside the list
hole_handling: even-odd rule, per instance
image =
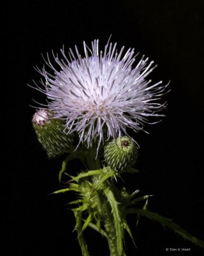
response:
[[[48,157],[70,151],[73,145],[73,135],[64,132],[64,120],[54,118],[54,114],[47,109],[38,109],[33,115],[32,122],[38,140],[45,148]]]

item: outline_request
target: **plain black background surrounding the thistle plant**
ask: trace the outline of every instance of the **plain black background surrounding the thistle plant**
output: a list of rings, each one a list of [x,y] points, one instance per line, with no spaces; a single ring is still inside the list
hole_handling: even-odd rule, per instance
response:
[[[99,38],[101,47],[112,34],[119,47],[135,47],[158,67],[150,76],[170,83],[163,122],[140,132],[137,167],[140,175],[124,177],[130,191],[154,194],[149,209],[173,219],[191,234],[203,234],[203,1],[16,1],[8,6],[8,119],[14,142],[9,166],[10,248],[12,255],[81,255],[68,206],[71,195],[48,196],[59,189],[63,157],[48,160],[36,140],[32,98],[45,97],[29,88],[43,67],[41,53],[59,52]],[[68,51],[67,51],[68,52]],[[139,58],[138,58],[139,60]],[[10,145],[10,143],[8,144]],[[10,149],[10,146],[9,146]],[[75,166],[69,166],[75,168]],[[165,248],[201,249],[157,223],[129,219],[137,249],[127,236],[128,255],[167,255]],[[108,255],[106,241],[85,232],[91,255]]]

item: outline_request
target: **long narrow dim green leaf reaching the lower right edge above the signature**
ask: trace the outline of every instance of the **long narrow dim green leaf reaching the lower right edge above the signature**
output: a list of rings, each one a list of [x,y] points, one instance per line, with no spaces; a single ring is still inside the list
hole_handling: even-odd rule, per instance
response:
[[[204,248],[204,241],[201,241],[200,239],[198,239],[194,236],[191,236],[191,234],[189,234],[186,230],[184,230],[179,225],[174,223],[172,220],[165,218],[165,217],[157,214],[156,212],[151,212],[147,209],[128,209],[128,213],[136,213],[136,214],[138,214],[138,216],[145,216],[145,217],[149,218],[150,220],[157,221],[164,227],[168,227],[168,228],[172,229],[175,233],[179,234],[184,239],[187,239],[187,240],[191,241],[191,243],[194,243],[194,244]]]

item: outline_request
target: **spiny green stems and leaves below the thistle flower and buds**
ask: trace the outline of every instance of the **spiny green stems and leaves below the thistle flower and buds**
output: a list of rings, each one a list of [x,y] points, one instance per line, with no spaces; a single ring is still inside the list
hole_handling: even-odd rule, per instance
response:
[[[89,154],[87,156],[89,157]],[[66,170],[68,161],[74,158],[82,159],[85,163],[85,158],[82,157],[80,151],[70,154],[62,163],[60,180],[62,173]],[[89,163],[91,163],[91,166],[98,166],[97,162],[90,161],[90,159]],[[131,170],[138,172],[138,170],[133,168],[128,170],[129,172]],[[75,177],[71,175],[69,177],[71,179],[66,182],[68,187],[54,193],[66,193],[68,191],[77,193],[78,199],[69,202],[69,205],[73,205],[72,211],[76,219],[75,230],[77,231],[77,238],[83,256],[89,256],[84,238],[84,230],[87,227],[91,227],[96,232],[99,232],[101,236],[106,237],[110,248],[110,256],[126,256],[124,251],[125,231],[128,232],[135,244],[131,229],[126,220],[128,214],[137,214],[138,219],[140,216],[145,216],[150,220],[157,221],[164,227],[171,228],[171,230],[174,230],[184,239],[204,247],[203,241],[191,236],[186,230],[173,223],[172,220],[149,211],[147,209],[147,202],[152,195],[140,195],[139,189],[136,189],[133,193],[128,193],[126,188],[118,189],[113,181],[116,177],[120,178],[120,173],[113,170],[110,166],[83,171]],[[141,209],[141,204],[139,203],[142,201],[145,204]]]

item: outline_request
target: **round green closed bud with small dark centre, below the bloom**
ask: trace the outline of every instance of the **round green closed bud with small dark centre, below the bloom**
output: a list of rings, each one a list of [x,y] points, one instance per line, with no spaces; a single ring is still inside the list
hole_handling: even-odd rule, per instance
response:
[[[105,147],[106,163],[119,172],[126,171],[135,164],[136,154],[136,145],[128,136],[112,140]]]

